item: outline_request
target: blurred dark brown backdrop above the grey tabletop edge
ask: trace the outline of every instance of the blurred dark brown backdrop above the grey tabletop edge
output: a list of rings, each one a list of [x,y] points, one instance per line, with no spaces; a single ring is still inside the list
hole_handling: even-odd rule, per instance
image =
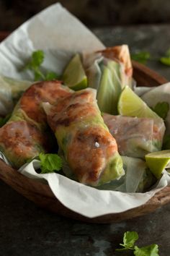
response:
[[[0,0],[0,30],[12,31],[55,0]],[[170,22],[169,0],[61,0],[90,27]]]

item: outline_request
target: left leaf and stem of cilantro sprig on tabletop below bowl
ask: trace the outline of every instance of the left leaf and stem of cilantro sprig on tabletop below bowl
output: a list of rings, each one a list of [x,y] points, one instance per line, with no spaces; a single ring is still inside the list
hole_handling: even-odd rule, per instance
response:
[[[116,249],[117,251],[122,251],[125,249],[134,249],[134,244],[138,240],[138,233],[135,231],[127,231],[123,236],[123,244],[120,244],[122,249]]]

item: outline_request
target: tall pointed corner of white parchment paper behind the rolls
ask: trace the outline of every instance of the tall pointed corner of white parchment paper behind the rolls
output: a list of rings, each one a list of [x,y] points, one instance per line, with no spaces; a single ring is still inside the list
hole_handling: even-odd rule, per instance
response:
[[[19,72],[32,51],[45,51],[43,66],[60,74],[76,52],[97,51],[104,45],[61,4],[53,4],[24,22],[0,44],[0,73],[18,79],[31,79]]]

